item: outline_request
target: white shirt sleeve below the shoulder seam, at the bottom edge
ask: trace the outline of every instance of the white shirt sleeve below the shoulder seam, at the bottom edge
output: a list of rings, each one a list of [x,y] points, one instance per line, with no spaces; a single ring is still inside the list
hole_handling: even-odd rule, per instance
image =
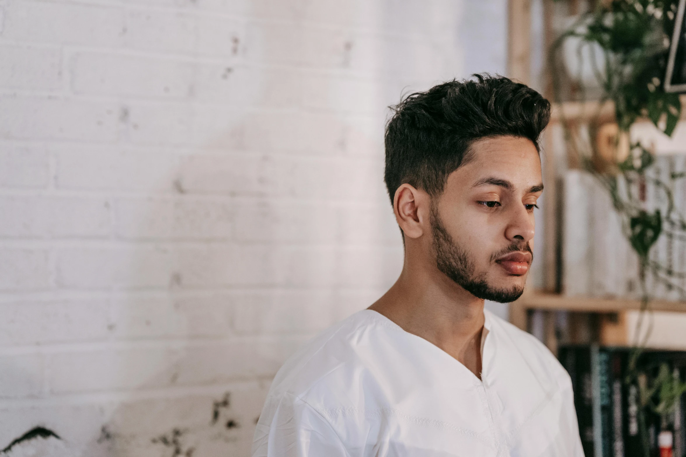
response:
[[[268,399],[257,423],[252,457],[349,457],[319,412],[289,395]]]

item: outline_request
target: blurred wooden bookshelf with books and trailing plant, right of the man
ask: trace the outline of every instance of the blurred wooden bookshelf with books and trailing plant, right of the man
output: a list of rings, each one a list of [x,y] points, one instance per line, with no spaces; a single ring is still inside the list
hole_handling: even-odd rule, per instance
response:
[[[685,9],[544,3],[550,261],[510,320],[567,369],[587,456],[686,455]]]

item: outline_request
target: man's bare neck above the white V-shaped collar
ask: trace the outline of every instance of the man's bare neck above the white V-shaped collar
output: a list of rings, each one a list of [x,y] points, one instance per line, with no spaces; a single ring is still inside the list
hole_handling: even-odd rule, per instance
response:
[[[407,270],[369,309],[438,346],[481,379],[484,300],[438,271]]]

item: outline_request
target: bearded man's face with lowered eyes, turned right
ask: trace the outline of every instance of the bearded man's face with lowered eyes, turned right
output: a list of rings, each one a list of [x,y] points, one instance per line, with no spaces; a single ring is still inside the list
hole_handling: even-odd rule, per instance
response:
[[[507,303],[531,266],[541,160],[513,136],[478,140],[471,153],[431,208],[436,266],[475,297]]]

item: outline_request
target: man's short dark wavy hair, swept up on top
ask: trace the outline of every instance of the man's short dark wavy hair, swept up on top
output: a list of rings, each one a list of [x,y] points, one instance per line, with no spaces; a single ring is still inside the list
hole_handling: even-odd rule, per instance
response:
[[[499,75],[473,75],[408,95],[386,125],[384,180],[393,201],[401,184],[443,192],[448,175],[470,160],[475,140],[494,136],[539,136],[550,119],[550,103],[532,88]]]

